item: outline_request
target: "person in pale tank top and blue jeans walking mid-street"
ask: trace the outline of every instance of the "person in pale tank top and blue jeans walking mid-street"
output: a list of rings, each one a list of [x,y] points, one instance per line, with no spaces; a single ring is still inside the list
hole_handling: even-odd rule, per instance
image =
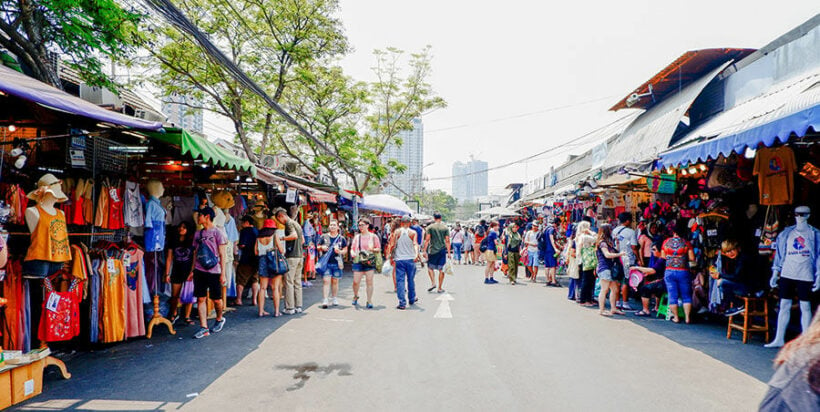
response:
[[[394,229],[390,234],[387,255],[390,256],[391,263],[396,268],[396,295],[399,298],[399,305],[396,309],[404,310],[407,308],[408,301],[411,305],[418,301],[415,277],[419,248],[416,242],[416,231],[410,227],[409,217],[403,217],[401,227]],[[406,291],[405,283],[407,284]]]

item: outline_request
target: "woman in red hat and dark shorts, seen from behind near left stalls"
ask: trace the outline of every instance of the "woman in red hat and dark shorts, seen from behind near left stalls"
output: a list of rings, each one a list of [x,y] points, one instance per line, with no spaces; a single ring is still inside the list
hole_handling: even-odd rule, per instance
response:
[[[268,316],[270,313],[265,312],[265,293],[268,290],[268,285],[273,289],[273,317],[282,316],[279,311],[282,303],[282,275],[281,273],[272,273],[268,269],[267,259],[270,259],[268,252],[274,249],[279,253],[285,253],[284,231],[276,229],[276,222],[273,219],[266,219],[262,225],[262,230],[259,231],[259,237],[256,239],[256,246],[254,253],[259,257],[259,293],[257,294],[256,306],[259,309],[259,317]]]

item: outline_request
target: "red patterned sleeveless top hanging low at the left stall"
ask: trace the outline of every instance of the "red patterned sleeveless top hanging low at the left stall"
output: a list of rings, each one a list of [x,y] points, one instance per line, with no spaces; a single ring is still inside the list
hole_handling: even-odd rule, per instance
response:
[[[50,278],[43,279],[43,284],[45,295],[38,336],[43,342],[71,340],[80,334],[80,300],[76,292],[79,281],[72,278],[66,292],[55,291]]]

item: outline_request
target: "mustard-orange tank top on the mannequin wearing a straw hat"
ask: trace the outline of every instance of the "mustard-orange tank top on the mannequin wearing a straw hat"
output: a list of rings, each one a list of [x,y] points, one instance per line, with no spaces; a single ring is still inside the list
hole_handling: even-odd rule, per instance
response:
[[[68,228],[65,214],[57,210],[54,215],[48,214],[39,205],[36,206],[40,219],[34,232],[31,233],[31,246],[26,253],[26,261],[45,260],[47,262],[68,262],[71,252],[68,248]]]

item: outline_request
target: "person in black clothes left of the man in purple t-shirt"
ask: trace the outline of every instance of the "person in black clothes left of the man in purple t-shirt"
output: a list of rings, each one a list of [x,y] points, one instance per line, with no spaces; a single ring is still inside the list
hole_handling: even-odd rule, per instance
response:
[[[177,226],[177,234],[178,236],[174,238],[175,242],[168,248],[168,256],[165,259],[165,283],[171,284],[171,300],[168,302],[171,323],[179,320],[178,304],[182,284],[193,279],[191,270],[194,266],[194,225],[188,222],[180,223]],[[195,323],[191,319],[191,306],[193,306],[191,303],[185,304],[187,325]]]

